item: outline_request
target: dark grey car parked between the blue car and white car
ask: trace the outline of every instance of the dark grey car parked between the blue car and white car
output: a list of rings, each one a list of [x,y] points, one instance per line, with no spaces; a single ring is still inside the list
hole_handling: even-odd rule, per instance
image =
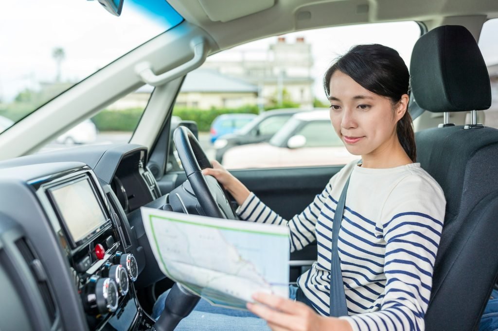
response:
[[[302,109],[268,110],[252,119],[245,127],[234,133],[219,137],[214,143],[216,160],[223,161],[223,155],[232,147],[261,143],[270,138],[297,112]]]

